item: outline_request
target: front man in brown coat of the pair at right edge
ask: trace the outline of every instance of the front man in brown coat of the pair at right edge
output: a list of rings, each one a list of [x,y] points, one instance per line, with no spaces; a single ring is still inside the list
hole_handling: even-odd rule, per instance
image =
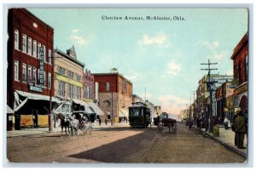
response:
[[[241,111],[238,112],[238,115],[234,122],[234,128],[236,132],[236,145],[239,149],[245,149],[243,146],[244,134],[246,134],[246,121]]]

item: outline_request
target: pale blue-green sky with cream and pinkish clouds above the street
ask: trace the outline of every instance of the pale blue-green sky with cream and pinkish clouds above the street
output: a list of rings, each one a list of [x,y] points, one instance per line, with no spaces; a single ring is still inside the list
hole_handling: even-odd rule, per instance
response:
[[[247,9],[29,10],[54,28],[54,48],[74,46],[92,73],[117,68],[131,80],[133,94],[144,99],[146,88],[147,100],[176,115],[193,103],[193,91],[207,74],[201,63],[209,59],[218,63],[212,73],[233,75],[230,57],[248,29]]]

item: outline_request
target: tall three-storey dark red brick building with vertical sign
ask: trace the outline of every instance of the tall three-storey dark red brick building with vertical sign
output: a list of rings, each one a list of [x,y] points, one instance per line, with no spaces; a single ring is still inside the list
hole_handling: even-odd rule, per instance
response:
[[[26,9],[9,9],[8,36],[7,103],[15,128],[48,126],[54,29]]]

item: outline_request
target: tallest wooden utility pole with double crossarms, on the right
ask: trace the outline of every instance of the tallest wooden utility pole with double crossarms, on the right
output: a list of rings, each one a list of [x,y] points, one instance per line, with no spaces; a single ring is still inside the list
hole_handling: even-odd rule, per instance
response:
[[[213,83],[217,83],[212,81],[211,79],[211,71],[212,70],[218,70],[218,68],[211,68],[211,65],[217,65],[218,63],[211,63],[210,60],[208,60],[208,63],[201,63],[201,65],[207,65],[208,68],[207,69],[201,69],[201,70],[207,70],[208,71],[208,75],[207,75],[207,91],[210,91],[210,107],[209,107],[209,111],[207,114],[207,122],[209,125],[209,133],[212,133],[212,128],[213,128],[213,121],[212,121],[212,84]],[[210,119],[210,121],[209,121]]]

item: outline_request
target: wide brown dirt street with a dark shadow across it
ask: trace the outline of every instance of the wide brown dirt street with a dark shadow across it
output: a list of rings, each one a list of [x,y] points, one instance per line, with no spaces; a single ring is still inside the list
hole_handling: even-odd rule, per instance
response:
[[[177,124],[177,134],[156,128],[99,128],[91,135],[28,135],[7,140],[9,162],[236,163],[244,157]]]

